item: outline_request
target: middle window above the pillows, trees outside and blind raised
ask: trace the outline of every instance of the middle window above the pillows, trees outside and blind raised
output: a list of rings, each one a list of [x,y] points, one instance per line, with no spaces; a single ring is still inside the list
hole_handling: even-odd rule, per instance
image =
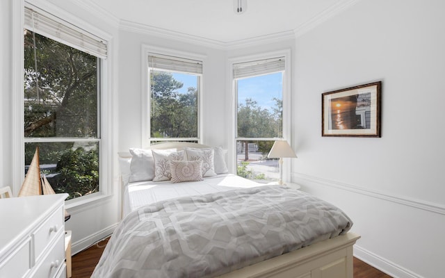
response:
[[[198,141],[202,62],[149,54],[149,142]]]

